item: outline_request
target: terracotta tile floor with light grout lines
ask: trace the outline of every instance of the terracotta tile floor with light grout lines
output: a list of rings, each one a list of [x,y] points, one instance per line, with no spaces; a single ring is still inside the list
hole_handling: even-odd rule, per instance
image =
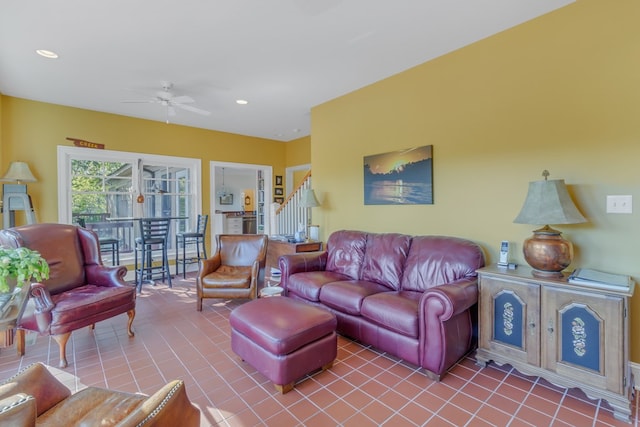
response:
[[[613,418],[606,402],[591,401],[509,366],[482,369],[466,358],[439,383],[415,367],[349,339],[338,339],[329,371],[280,395],[232,351],[228,317],[246,301],[205,300],[195,307],[195,279],[145,285],[138,297],[136,336],[126,315],[74,332],[67,344],[76,387],[153,393],[182,378],[202,411],[202,425],[221,426],[638,426]],[[36,336],[30,336],[36,338]],[[0,351],[0,379],[28,364],[58,364],[57,344],[37,337],[24,357]]]

